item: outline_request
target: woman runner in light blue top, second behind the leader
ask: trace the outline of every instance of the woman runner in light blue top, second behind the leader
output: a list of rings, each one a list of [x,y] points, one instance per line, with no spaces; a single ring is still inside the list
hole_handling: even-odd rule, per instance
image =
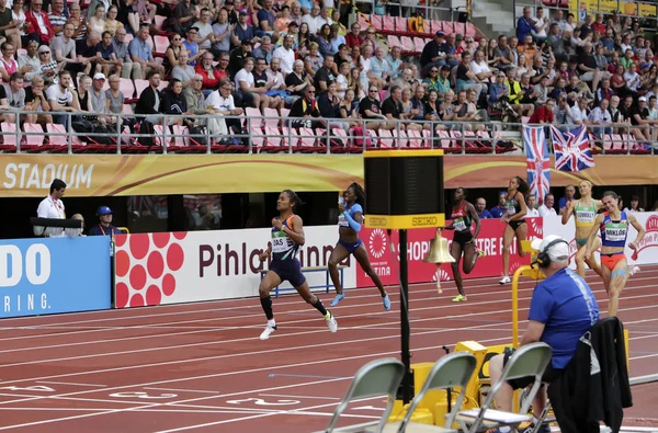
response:
[[[384,290],[379,276],[373,270],[367,259],[367,251],[365,246],[359,237],[359,231],[363,227],[363,207],[365,205],[365,193],[358,183],[352,183],[348,191],[344,192],[343,198],[345,204],[339,204],[340,215],[338,216],[338,243],[329,258],[329,274],[331,274],[331,281],[333,287],[336,287],[336,297],[331,301],[331,307],[338,305],[344,299],[345,294],[342,285],[340,284],[340,275],[338,273],[338,264],[345,260],[350,254],[354,255],[354,259],[361,264],[361,267],[367,276],[370,276],[379,289],[382,295],[382,301],[384,303],[384,309],[388,311],[390,309],[390,299],[388,294]]]

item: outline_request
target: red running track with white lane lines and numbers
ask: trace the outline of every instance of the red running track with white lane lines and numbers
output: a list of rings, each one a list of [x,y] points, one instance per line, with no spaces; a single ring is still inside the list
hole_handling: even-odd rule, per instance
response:
[[[658,373],[658,266],[624,290],[620,318],[631,334],[631,376]],[[601,310],[600,280],[588,276]],[[495,278],[410,287],[412,362],[434,362],[443,345],[511,341],[511,294]],[[534,283],[522,281],[520,318]],[[354,289],[333,308],[339,331],[296,295],[274,299],[279,330],[258,339],[258,299],[44,316],[0,321],[0,431],[282,432],[324,429],[356,369],[399,356],[397,287],[385,312],[374,289]],[[322,295],[326,305],[332,294]],[[525,321],[521,321],[521,332]],[[626,425],[658,425],[658,387],[633,388]],[[340,425],[377,419],[382,398],[351,404]]]

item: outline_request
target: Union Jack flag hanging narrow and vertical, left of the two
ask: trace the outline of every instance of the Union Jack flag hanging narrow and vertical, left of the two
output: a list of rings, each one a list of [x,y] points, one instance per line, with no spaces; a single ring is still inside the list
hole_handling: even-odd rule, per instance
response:
[[[527,163],[530,193],[542,203],[551,187],[551,156],[542,126],[523,125],[523,144]]]

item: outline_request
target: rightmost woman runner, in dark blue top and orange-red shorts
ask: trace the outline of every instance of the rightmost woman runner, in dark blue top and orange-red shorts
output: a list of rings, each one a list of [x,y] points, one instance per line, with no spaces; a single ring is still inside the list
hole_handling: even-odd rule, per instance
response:
[[[628,225],[637,230],[637,237],[628,244],[632,250],[637,250],[645,236],[645,229],[632,213],[619,208],[617,195],[612,191],[603,193],[603,208],[605,212],[597,216],[597,220],[587,239],[585,255],[594,252],[594,239],[601,230],[601,273],[603,285],[610,297],[608,316],[616,316],[620,307],[620,296],[628,277],[639,271],[639,267],[629,267],[626,263],[624,248],[628,237]]]

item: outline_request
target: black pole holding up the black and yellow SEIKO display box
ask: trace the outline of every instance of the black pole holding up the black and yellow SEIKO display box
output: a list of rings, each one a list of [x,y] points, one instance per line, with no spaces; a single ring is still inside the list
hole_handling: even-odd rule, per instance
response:
[[[400,229],[400,327],[402,338],[402,364],[405,364],[405,376],[402,377],[402,401],[405,404],[413,398],[413,378],[411,376],[411,354],[409,351],[409,275],[407,269],[407,230]]]

